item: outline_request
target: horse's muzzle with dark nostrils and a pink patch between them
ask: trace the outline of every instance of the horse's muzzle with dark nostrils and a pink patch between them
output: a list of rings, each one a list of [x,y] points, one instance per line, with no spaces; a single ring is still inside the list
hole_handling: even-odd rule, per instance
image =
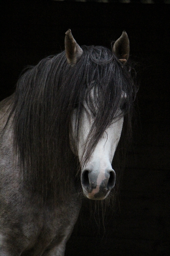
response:
[[[94,171],[84,169],[81,173],[81,185],[84,195],[92,200],[103,200],[114,187],[116,174],[113,169]]]

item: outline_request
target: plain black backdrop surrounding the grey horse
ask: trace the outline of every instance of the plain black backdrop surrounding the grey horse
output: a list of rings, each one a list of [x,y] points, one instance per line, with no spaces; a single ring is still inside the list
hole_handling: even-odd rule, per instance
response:
[[[169,5],[4,1],[0,8],[0,99],[14,92],[25,66],[64,50],[68,28],[80,46],[106,47],[126,30],[140,88],[119,207],[104,233],[84,206],[66,256],[169,256]]]

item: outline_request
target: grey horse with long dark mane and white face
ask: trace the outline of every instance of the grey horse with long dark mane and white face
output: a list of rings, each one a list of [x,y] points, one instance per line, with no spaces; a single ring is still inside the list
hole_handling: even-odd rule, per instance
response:
[[[0,256],[63,256],[83,197],[104,200],[135,86],[125,31],[112,49],[65,51],[20,76],[0,103]]]

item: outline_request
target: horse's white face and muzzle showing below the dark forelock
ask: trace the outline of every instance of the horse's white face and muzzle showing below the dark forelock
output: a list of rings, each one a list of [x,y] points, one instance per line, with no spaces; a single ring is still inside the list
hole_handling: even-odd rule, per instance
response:
[[[75,136],[76,110],[72,118],[72,133]],[[80,137],[78,142],[78,157],[80,164],[86,150],[86,139],[93,123],[92,115],[86,104],[82,113]],[[92,200],[103,200],[114,187],[116,174],[111,162],[120,139],[123,126],[123,117],[117,118],[102,134],[92,155],[84,166],[81,165],[81,185],[84,195]],[[73,136],[73,137],[74,137]],[[73,148],[73,147],[72,147]]]

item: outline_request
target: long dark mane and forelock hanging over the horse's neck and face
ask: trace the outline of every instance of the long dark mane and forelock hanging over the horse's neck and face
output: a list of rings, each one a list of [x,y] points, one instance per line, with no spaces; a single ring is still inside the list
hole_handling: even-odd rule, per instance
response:
[[[62,52],[42,59],[17,82],[11,111],[14,149],[32,189],[45,197],[51,190],[62,197],[69,192],[69,184],[75,182],[80,165],[69,143],[71,117],[77,108],[76,149],[83,101],[94,117],[84,162],[117,117],[122,92],[126,94],[123,115],[130,134],[136,90],[128,69],[105,47],[82,46],[82,49],[83,55],[73,67]]]

